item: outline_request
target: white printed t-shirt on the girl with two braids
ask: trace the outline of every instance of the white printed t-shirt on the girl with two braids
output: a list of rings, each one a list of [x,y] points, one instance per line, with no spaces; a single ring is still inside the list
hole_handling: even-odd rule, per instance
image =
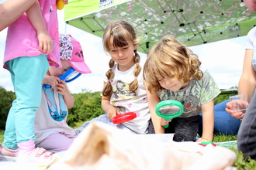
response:
[[[134,64],[130,70],[122,72],[117,69],[118,64],[115,63],[112,68],[115,76],[110,80],[113,89],[110,104],[116,107],[121,114],[135,112],[137,117],[131,121],[126,121],[123,124],[138,134],[145,134],[147,133],[148,121],[150,120],[150,112],[147,103],[146,87],[144,87],[143,83],[143,70],[140,71],[140,74],[137,77],[139,87],[136,92],[133,93],[129,90],[129,83],[133,82],[135,78],[133,76],[133,70],[136,65],[137,64]],[[144,61],[140,62],[140,66],[143,68]],[[108,80],[105,73],[103,79],[107,82]]]

